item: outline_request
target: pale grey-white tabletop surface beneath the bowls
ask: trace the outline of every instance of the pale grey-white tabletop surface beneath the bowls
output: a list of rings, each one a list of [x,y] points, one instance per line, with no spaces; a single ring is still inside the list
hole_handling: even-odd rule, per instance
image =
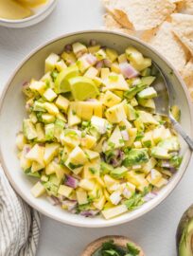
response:
[[[99,0],[59,0],[57,9],[34,27],[0,27],[0,90],[26,54],[47,39],[65,32],[98,28],[102,25]],[[79,256],[97,237],[127,235],[147,256],[175,256],[175,231],[184,210],[193,203],[193,160],[180,185],[159,207],[132,223],[108,229],[79,229],[43,217],[37,256]]]

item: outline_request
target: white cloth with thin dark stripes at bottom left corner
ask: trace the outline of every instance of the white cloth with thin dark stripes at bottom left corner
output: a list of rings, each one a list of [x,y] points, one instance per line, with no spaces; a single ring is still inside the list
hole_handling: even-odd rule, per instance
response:
[[[12,190],[0,168],[0,256],[36,255],[40,226],[40,214]]]

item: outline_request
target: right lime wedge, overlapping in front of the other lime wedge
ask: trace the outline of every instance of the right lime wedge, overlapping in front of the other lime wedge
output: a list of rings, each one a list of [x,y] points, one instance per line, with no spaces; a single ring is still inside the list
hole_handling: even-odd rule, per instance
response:
[[[96,83],[86,77],[75,77],[69,80],[72,95],[75,100],[84,101],[99,95]]]

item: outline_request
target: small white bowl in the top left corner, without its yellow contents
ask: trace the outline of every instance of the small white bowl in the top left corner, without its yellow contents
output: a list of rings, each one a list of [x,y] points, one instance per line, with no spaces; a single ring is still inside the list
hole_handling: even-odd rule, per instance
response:
[[[5,0],[6,1],[6,0]],[[34,14],[21,20],[9,20],[0,18],[0,26],[3,27],[30,27],[43,21],[56,7],[57,0],[47,0],[47,3],[34,8]]]

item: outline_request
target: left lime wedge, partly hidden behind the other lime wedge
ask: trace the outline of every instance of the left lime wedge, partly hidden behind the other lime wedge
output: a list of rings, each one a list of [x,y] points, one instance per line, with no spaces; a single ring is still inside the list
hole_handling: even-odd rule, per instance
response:
[[[79,76],[79,68],[76,64],[68,66],[59,73],[55,81],[55,91],[57,94],[69,92],[71,90],[69,79]]]

